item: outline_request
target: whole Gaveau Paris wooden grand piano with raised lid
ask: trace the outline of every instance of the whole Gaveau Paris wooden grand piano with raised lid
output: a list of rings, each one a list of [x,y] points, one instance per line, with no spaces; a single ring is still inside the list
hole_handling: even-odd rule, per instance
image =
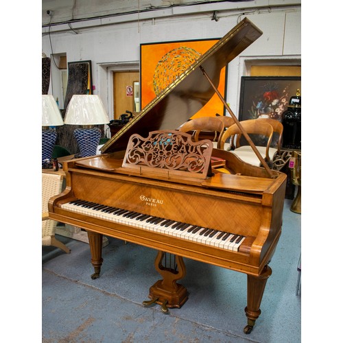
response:
[[[261,34],[248,19],[241,21],[117,132],[102,154],[65,162],[67,187],[49,200],[51,219],[87,231],[92,279],[103,262],[102,235],[158,250],[155,267],[163,279],[150,287],[144,305],[157,303],[167,313],[185,304],[187,289],[177,283],[186,272],[183,257],[246,273],[245,333],[261,313],[272,274],[268,263],[281,235],[286,176],[213,149],[209,140],[192,142],[176,128],[214,93],[221,97],[220,70]],[[163,262],[169,254],[172,265]]]

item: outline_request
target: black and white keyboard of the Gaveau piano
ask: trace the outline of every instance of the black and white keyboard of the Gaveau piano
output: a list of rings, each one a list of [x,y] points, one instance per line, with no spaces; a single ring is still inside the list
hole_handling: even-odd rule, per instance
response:
[[[88,202],[86,200],[73,200],[62,204],[61,207],[68,211],[83,213],[91,217],[99,217],[103,220],[135,226],[189,241],[196,241],[200,244],[215,246],[225,250],[238,251],[239,246],[245,239],[244,236],[226,233],[225,231],[166,220],[161,217],[144,215],[142,213],[96,204],[95,202]]]

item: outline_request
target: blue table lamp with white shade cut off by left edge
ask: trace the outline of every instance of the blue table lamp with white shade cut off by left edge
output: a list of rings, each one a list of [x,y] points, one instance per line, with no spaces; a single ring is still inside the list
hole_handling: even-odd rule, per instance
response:
[[[56,143],[54,126],[63,125],[63,119],[52,95],[42,95],[42,167],[51,165],[51,155]]]

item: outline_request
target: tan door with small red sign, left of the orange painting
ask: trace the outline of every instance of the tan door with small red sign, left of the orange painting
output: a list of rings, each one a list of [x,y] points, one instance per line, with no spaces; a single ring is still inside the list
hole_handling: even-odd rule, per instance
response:
[[[137,90],[139,83],[139,72],[137,71],[113,71],[113,113],[114,118],[119,119],[120,115],[130,112],[137,112],[135,105],[134,90]],[[137,93],[137,92],[136,92]]]

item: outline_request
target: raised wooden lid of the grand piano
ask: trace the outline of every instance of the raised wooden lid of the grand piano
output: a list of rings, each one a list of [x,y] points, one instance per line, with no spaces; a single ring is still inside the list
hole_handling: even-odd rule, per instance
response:
[[[137,117],[131,119],[105,143],[101,152],[125,150],[128,140],[134,133],[147,137],[150,131],[178,128],[209,102],[215,93],[200,70],[200,66],[217,87],[222,68],[241,54],[261,34],[261,30],[251,21],[247,18],[243,19],[169,84],[150,104],[147,104]]]

